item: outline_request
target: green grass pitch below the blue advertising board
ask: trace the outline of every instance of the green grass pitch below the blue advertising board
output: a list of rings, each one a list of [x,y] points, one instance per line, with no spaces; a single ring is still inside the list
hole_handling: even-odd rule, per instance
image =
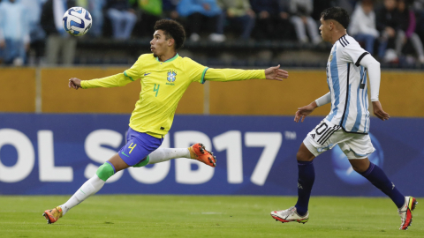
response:
[[[385,197],[312,197],[302,225],[269,215],[296,197],[95,195],[48,225],[68,197],[0,196],[0,237],[424,237],[424,198],[407,231]]]

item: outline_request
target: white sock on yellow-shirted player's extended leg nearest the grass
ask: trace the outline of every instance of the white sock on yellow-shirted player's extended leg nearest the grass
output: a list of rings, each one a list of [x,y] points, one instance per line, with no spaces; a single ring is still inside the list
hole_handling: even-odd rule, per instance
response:
[[[87,180],[87,182],[84,182],[79,190],[77,190],[66,203],[59,205],[62,207],[63,215],[72,207],[79,205],[82,201],[86,200],[87,197],[92,196],[98,190],[102,189],[103,185],[104,181],[102,181],[102,179],[100,179],[97,175],[94,175],[92,178]]]

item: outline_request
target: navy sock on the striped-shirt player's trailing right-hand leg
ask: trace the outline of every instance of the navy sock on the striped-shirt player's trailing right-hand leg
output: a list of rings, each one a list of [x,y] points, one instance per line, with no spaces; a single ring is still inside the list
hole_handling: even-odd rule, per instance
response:
[[[389,196],[398,208],[405,204],[405,196],[399,192],[395,184],[384,174],[382,168],[370,162],[367,170],[360,173],[360,175],[366,177],[377,189],[382,190],[384,194]]]

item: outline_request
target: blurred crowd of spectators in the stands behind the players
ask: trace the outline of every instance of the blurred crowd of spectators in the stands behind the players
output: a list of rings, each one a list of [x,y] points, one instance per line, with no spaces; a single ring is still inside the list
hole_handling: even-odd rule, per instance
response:
[[[87,35],[64,32],[72,6],[91,13]],[[331,6],[383,67],[424,69],[424,0],[0,0],[0,65],[133,63],[155,21],[175,19],[187,33],[180,55],[209,66],[322,67],[331,45],[319,19]]]

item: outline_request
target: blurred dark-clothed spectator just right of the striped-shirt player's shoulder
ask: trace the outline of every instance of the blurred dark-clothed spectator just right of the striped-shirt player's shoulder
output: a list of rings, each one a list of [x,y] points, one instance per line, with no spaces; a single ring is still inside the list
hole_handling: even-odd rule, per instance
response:
[[[380,32],[378,56],[385,62],[397,61],[395,48],[396,29],[398,22],[395,18],[396,0],[384,0],[382,6],[375,11],[377,30]],[[390,50],[387,50],[390,48]],[[386,52],[387,51],[387,52]]]

